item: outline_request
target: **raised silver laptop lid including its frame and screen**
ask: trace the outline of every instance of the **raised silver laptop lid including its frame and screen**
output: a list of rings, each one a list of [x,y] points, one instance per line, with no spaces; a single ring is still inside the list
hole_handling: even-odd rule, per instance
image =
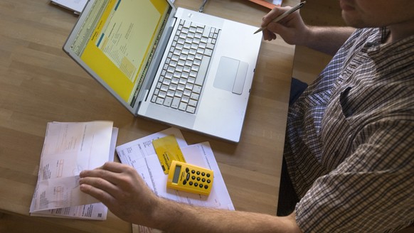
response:
[[[137,115],[175,12],[167,0],[90,0],[63,50]]]

